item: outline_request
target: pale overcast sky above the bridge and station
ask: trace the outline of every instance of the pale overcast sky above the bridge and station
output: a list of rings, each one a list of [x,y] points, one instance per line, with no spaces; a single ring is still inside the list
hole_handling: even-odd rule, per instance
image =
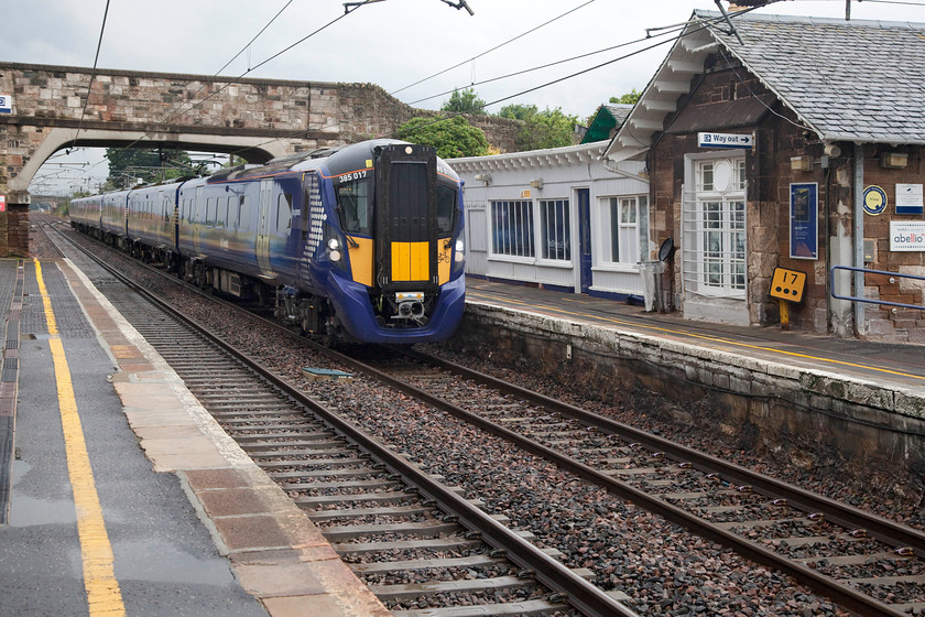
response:
[[[426,109],[472,87],[489,112],[524,104],[584,120],[646,86],[672,32],[646,39],[649,29],[718,10],[715,0],[466,0],[470,15],[457,2],[374,0],[346,12],[342,0],[109,0],[107,12],[107,0],[0,0],[0,61],[91,67],[102,30],[100,68],[372,83]],[[850,7],[852,20],[925,22],[925,0]],[[845,19],[846,0],[784,0],[757,12]],[[563,62],[575,56],[584,57]],[[55,156],[32,192],[96,188],[108,173],[101,153]]]

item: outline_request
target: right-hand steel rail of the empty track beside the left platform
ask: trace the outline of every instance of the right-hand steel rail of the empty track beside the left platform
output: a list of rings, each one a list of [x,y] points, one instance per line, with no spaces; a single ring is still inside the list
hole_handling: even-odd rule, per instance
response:
[[[551,591],[558,594],[562,598],[568,602],[569,605],[580,610],[583,614],[587,615],[588,617],[639,617],[636,613],[632,611],[627,606],[608,595],[606,592],[601,591],[594,584],[586,581],[579,574],[576,574],[575,572],[569,570],[565,564],[547,555],[545,552],[543,552],[543,550],[538,549],[531,542],[524,540],[504,524],[496,521],[487,512],[485,512],[477,506],[470,504],[468,500],[454,492],[450,487],[447,487],[442,483],[435,480],[428,474],[423,472],[420,467],[409,462],[401,455],[392,452],[388,446],[385,446],[374,436],[364,432],[360,427],[355,426],[350,422],[347,422],[337,413],[330,411],[312,397],[293,388],[282,377],[279,377],[272,371],[265,369],[257,360],[254,360],[247,354],[243,354],[242,351],[236,349],[231,344],[224,340],[221,337],[216,336],[215,334],[209,332],[205,326],[198,324],[195,320],[175,310],[166,301],[164,301],[156,294],[144,290],[143,288],[132,282],[130,279],[128,279],[120,272],[111,269],[108,263],[102,261],[97,256],[90,253],[79,245],[74,243],[66,236],[62,235],[62,237],[67,239],[76,248],[81,250],[85,255],[87,255],[90,259],[99,263],[107,271],[111,272],[117,279],[119,279],[122,283],[133,289],[141,296],[170,312],[171,315],[173,315],[175,318],[185,323],[187,326],[189,326],[194,331],[198,332],[199,334],[207,337],[209,340],[211,340],[213,343],[231,354],[235,358],[237,358],[251,370],[260,375],[263,379],[279,388],[287,397],[291,397],[296,402],[311,409],[325,422],[330,424],[335,430],[341,432],[353,443],[358,444],[361,448],[369,452],[373,457],[378,458],[379,462],[389,467],[392,473],[401,475],[407,484],[416,487],[422,495],[424,495],[426,498],[433,499],[448,513],[456,517],[457,521],[460,524],[468,528],[470,531],[478,532],[486,543],[503,551],[507,559],[509,559],[518,566],[529,571],[530,574],[532,574],[538,582],[546,585]],[[231,303],[228,304],[229,306],[235,307],[238,311],[241,310],[240,307],[237,307]],[[263,321],[266,324],[270,324],[276,328],[281,328],[279,324],[274,324],[273,322],[266,320]],[[283,329],[284,332],[289,332],[285,328],[281,329]],[[303,342],[305,340],[302,337],[297,338],[300,338],[300,340]],[[344,354],[326,349],[322,346],[318,347],[325,349],[326,351],[330,351],[334,356],[336,356],[338,359],[342,359],[342,361],[345,361],[346,364],[349,364],[351,366],[358,365],[356,360],[351,360],[348,356],[345,356]],[[369,370],[374,370],[372,369],[372,367],[368,368]]]

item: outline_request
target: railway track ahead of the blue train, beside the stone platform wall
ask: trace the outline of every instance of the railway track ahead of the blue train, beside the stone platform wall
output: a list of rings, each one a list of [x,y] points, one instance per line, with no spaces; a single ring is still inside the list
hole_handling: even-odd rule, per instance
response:
[[[925,611],[918,530],[433,357],[337,361],[785,572],[853,614]]]

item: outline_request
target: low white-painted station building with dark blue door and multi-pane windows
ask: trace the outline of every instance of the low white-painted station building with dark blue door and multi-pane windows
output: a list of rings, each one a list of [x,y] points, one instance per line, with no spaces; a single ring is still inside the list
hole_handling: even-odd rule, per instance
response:
[[[645,162],[607,160],[608,143],[448,160],[465,182],[466,273],[643,302]]]

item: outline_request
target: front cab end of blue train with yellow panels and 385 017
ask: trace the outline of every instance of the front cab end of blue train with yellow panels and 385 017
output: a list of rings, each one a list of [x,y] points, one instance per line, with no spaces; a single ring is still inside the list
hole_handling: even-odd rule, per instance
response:
[[[353,281],[336,279],[331,301],[347,329],[363,340],[447,338],[465,307],[459,183],[434,149],[422,145],[380,145],[374,166],[376,241],[348,232]],[[357,206],[356,186],[362,184],[336,187],[346,230],[356,228],[348,219],[362,218],[345,207]]]

